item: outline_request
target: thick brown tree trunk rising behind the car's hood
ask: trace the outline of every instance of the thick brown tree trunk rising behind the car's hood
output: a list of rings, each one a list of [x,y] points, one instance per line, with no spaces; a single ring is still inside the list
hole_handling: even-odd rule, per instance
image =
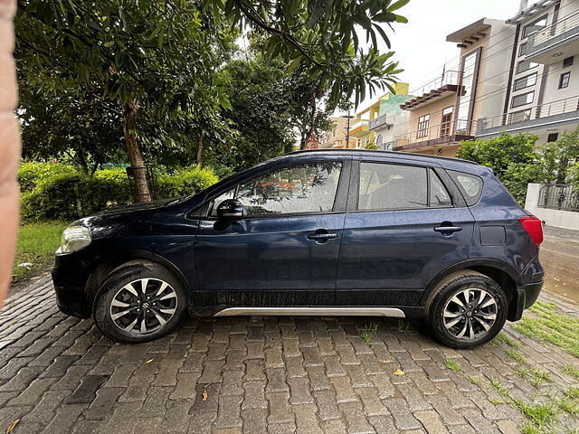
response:
[[[124,103],[123,134],[125,136],[125,145],[127,145],[128,161],[133,169],[133,177],[135,178],[135,194],[138,202],[150,202],[151,193],[148,191],[145,163],[143,162],[141,149],[138,146],[137,136],[135,136],[135,131],[137,129],[137,124],[135,122],[136,116],[137,103],[135,101]]]

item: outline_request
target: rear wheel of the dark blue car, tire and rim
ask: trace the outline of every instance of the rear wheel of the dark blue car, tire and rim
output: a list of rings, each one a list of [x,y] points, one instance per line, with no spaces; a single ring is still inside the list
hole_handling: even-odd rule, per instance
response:
[[[507,320],[508,300],[492,278],[464,269],[433,289],[426,312],[432,335],[439,342],[467,349],[498,335]]]

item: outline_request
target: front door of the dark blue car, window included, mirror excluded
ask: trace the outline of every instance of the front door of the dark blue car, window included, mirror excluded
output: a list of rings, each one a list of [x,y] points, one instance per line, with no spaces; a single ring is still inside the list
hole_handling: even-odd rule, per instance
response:
[[[327,306],[335,303],[350,160],[271,168],[208,202],[195,236],[204,306]],[[216,218],[224,199],[244,216]]]

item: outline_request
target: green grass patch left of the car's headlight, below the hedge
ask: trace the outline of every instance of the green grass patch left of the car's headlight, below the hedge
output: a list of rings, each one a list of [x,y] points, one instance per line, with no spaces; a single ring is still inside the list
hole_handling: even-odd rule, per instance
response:
[[[64,222],[27,223],[20,226],[13,281],[33,278],[52,265],[54,251],[61,245]],[[32,263],[28,267],[19,264]]]

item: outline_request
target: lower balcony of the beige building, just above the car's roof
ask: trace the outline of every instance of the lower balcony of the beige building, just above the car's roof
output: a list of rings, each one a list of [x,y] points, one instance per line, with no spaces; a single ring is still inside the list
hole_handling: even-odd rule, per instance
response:
[[[412,133],[394,137],[392,149],[407,151],[413,149],[428,150],[440,146],[457,144],[461,140],[472,139],[477,129],[476,121],[455,120],[440,125],[428,126]],[[389,143],[390,145],[390,143]]]

